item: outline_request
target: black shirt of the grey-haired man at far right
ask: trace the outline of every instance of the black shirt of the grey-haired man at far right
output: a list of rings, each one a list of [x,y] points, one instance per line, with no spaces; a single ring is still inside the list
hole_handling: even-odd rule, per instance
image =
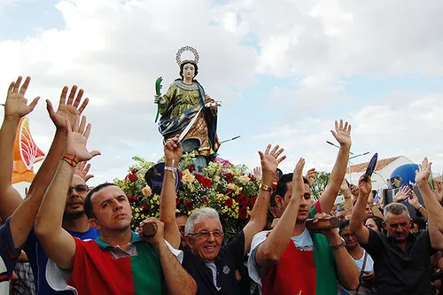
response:
[[[410,234],[406,252],[393,237],[369,229],[369,243],[362,245],[374,260],[377,295],[434,294],[431,285],[429,232]]]

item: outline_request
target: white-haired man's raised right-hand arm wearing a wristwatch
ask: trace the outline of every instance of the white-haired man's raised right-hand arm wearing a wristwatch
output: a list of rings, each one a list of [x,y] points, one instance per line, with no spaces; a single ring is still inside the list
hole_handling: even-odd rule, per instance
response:
[[[278,164],[286,159],[286,156],[280,157],[284,149],[279,149],[278,145],[269,152],[270,149],[271,145],[268,144],[264,153],[259,151],[262,171],[261,186],[259,196],[253,206],[251,219],[243,229],[243,233],[245,234],[245,254],[249,252],[249,249],[251,248],[253,236],[263,230],[266,226],[274,174],[276,173]]]

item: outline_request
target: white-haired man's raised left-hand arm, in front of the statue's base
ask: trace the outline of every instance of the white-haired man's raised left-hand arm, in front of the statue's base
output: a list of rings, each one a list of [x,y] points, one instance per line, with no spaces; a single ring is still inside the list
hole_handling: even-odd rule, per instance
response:
[[[165,176],[160,194],[160,221],[165,223],[165,239],[175,249],[180,247],[180,231],[175,221],[175,171],[182,158],[182,144],[177,144],[178,137],[168,139],[165,144]],[[169,169],[169,168],[171,169]]]

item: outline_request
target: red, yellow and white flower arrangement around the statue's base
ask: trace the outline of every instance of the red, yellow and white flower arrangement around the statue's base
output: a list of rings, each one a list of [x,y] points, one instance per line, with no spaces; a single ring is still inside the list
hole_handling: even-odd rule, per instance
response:
[[[154,216],[159,217],[159,195],[144,182],[144,173],[155,165],[140,157],[133,158],[128,175],[114,182],[127,194],[133,209],[133,226]],[[237,237],[251,216],[259,194],[260,179],[248,168],[235,166],[227,160],[215,159],[204,169],[192,164],[192,156],[183,155],[179,164],[180,184],[176,196],[177,212],[190,213],[210,206],[220,213],[227,240]]]

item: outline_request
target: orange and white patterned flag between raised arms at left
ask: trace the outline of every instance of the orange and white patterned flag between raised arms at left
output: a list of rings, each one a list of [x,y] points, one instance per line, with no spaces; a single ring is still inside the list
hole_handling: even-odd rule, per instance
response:
[[[21,118],[14,142],[14,164],[12,168],[12,184],[32,182],[34,164],[44,159],[44,153],[35,144],[29,130],[29,119]]]

